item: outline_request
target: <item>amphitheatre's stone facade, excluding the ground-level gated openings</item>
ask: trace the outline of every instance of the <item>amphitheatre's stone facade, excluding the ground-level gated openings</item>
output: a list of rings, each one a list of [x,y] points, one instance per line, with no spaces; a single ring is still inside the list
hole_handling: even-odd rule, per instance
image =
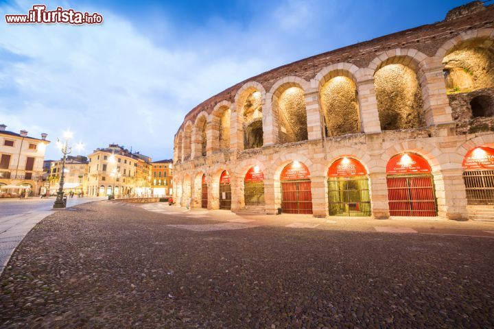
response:
[[[472,110],[468,112],[468,101],[462,100],[467,97],[462,95],[464,93],[448,95],[443,72],[447,68],[443,60],[455,51],[468,51],[469,47],[493,51],[494,5],[481,4],[481,7],[475,1],[470,7],[451,12],[445,21],[281,66],[204,101],[186,115],[176,134],[176,203],[185,205],[191,199],[191,206],[199,208],[200,186],[205,174],[208,208],[219,208],[220,175],[226,170],[231,175],[231,209],[242,209],[244,177],[252,166],[257,166],[264,175],[265,211],[275,214],[281,207],[281,171],[296,160],[310,171],[314,216],[325,217],[328,215],[328,168],[339,158],[351,157],[366,167],[372,216],[388,218],[386,164],[393,156],[410,152],[425,158],[432,167],[438,217],[467,219],[462,160],[473,147],[493,147],[494,132],[472,131],[469,127],[465,130]],[[386,75],[386,71],[390,73]],[[406,76],[398,81],[400,75],[396,72]],[[379,82],[375,79],[377,73]],[[329,88],[335,77],[341,77],[346,87]],[[387,88],[387,78],[395,79],[392,83],[399,88]],[[355,85],[355,99],[348,93],[349,88],[353,88],[349,80]],[[381,90],[379,97],[376,89]],[[302,104],[299,104],[300,97],[285,97],[290,90],[293,95],[298,95],[298,90],[303,92]],[[327,90],[333,93],[344,90],[341,101],[350,105],[344,110],[338,103],[331,106],[329,102],[338,101],[338,97],[329,97]],[[468,90],[468,93],[480,92]],[[250,121],[246,122],[244,111],[249,108],[246,105],[253,93],[257,93],[260,101],[263,144],[247,148],[244,142]],[[490,92],[487,94],[492,96]],[[405,100],[408,105],[386,108],[396,104],[397,99]],[[334,113],[332,108],[335,108]],[[357,114],[352,114],[355,108]],[[333,127],[345,127],[338,121],[344,111],[349,112],[349,120],[358,120],[346,125],[346,133]],[[230,118],[228,127],[222,119],[224,113]],[[397,121],[387,118],[390,124],[383,125],[380,120],[383,115],[396,115]],[[493,122],[492,117],[475,120],[485,121],[489,127]],[[204,121],[206,156],[199,151],[203,149]],[[300,131],[299,123],[304,123],[303,131],[307,134],[285,138],[283,134],[288,136],[290,132]],[[358,127],[357,132],[355,127]],[[229,147],[220,147],[226,140],[225,132],[230,133]]]

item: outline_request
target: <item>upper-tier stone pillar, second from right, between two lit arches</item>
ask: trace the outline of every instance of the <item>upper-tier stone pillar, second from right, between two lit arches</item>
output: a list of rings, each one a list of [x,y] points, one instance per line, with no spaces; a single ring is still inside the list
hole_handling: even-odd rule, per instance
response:
[[[357,82],[357,90],[360,109],[360,130],[366,134],[381,132],[374,79]]]

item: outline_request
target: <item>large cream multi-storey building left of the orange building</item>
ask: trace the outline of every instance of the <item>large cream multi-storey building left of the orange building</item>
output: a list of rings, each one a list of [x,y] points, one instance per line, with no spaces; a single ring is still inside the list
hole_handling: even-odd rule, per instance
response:
[[[139,155],[139,156],[138,156]],[[124,147],[110,144],[89,154],[87,194],[143,196],[151,193],[150,161]]]

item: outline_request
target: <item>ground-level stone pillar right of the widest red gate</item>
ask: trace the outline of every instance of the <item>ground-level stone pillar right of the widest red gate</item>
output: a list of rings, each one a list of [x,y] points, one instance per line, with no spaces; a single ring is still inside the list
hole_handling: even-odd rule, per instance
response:
[[[443,169],[434,175],[438,216],[456,221],[469,219],[463,169]]]

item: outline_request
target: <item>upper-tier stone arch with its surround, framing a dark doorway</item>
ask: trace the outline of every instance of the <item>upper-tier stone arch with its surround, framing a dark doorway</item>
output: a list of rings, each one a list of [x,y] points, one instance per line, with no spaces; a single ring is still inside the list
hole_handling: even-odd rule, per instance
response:
[[[235,95],[235,115],[231,115],[231,129],[235,129],[234,146],[252,149],[263,146],[263,106],[266,90],[259,82],[247,82]]]

